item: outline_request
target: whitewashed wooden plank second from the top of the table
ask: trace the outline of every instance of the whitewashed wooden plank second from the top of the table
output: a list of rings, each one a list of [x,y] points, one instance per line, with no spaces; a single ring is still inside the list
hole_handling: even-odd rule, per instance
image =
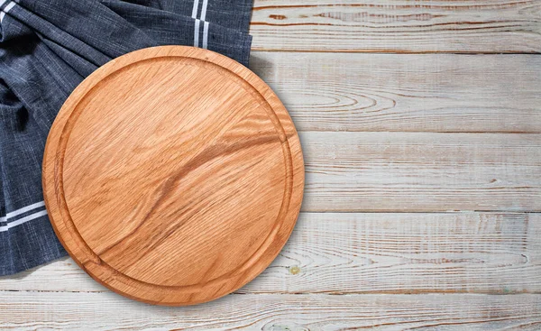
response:
[[[253,52],[251,68],[301,131],[541,132],[536,55]]]

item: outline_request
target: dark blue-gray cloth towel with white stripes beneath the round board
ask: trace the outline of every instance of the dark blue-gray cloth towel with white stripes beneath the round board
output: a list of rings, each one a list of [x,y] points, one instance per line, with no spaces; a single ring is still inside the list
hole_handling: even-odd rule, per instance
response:
[[[41,191],[50,125],[71,91],[129,51],[190,45],[247,65],[252,0],[0,0],[0,275],[66,254]]]

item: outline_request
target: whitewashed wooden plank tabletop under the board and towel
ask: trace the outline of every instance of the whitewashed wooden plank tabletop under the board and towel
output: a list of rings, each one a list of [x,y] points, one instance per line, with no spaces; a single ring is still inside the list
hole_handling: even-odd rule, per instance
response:
[[[305,151],[280,257],[190,308],[63,259],[0,279],[0,329],[541,329],[541,0],[256,0],[251,32]]]

